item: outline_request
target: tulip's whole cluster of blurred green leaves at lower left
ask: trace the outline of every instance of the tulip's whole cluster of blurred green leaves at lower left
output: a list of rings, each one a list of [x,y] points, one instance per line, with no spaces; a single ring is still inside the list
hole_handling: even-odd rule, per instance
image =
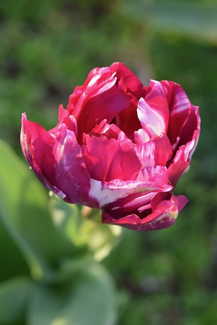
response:
[[[107,256],[119,234],[108,225],[101,228],[77,206],[49,199],[3,141],[0,157],[1,261],[6,270],[10,262],[15,269],[0,270],[2,280],[8,276],[0,284],[1,325],[113,324],[113,280],[94,261]]]

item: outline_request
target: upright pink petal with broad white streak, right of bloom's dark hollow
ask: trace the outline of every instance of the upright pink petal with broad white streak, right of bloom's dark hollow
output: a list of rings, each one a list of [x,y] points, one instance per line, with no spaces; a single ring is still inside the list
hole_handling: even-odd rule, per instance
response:
[[[169,121],[169,108],[164,88],[160,82],[151,81],[151,91],[145,99],[140,98],[137,114],[142,129],[135,132],[137,143],[144,143],[153,135],[160,136],[162,132],[167,133]]]

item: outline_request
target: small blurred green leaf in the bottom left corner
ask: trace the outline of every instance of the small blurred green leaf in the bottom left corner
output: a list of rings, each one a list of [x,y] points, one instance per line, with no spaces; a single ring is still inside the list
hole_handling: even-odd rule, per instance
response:
[[[25,312],[32,281],[20,277],[0,285],[0,324],[14,324]]]

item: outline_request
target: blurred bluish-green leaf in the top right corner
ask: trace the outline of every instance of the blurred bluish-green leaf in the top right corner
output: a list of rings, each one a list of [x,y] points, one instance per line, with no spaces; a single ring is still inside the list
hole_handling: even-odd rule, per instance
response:
[[[187,2],[126,1],[118,8],[137,23],[160,32],[217,42],[217,5]]]

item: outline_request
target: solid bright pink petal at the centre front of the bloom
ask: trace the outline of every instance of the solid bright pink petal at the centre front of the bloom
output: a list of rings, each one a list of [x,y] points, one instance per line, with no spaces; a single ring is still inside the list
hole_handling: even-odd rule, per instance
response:
[[[132,142],[118,134],[118,139],[103,136],[86,137],[86,146],[82,146],[82,154],[91,178],[110,181],[135,179],[141,164]]]

